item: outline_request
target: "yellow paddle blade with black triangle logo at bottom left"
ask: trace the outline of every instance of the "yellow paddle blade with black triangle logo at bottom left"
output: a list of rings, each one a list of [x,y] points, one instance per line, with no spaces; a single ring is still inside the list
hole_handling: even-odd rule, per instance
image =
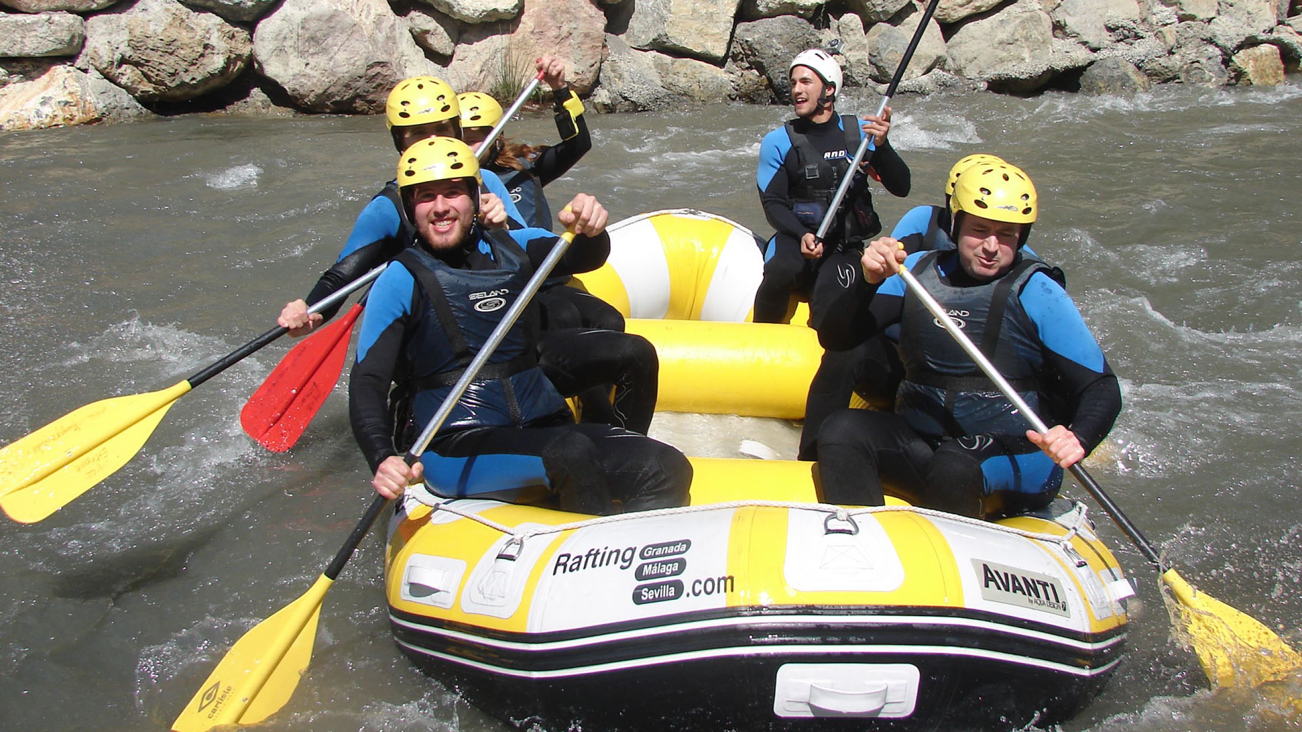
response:
[[[285,706],[307,671],[326,591],[322,574],[301,598],[245,633],[172,723],[172,732],[254,724]]]

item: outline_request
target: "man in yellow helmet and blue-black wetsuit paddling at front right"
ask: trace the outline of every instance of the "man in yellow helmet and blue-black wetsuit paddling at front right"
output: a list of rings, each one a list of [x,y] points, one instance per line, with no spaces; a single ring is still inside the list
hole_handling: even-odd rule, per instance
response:
[[[1048,505],[1062,469],[1112,429],[1121,391],[1060,274],[1023,257],[1036,194],[1019,168],[969,168],[949,202],[957,249],[918,251],[883,237],[865,250],[854,317],[820,336],[845,345],[900,323],[905,378],[896,410],[846,409],[818,435],[823,499],[996,517]],[[1048,423],[1044,436],[980,371],[897,275],[901,263]]]

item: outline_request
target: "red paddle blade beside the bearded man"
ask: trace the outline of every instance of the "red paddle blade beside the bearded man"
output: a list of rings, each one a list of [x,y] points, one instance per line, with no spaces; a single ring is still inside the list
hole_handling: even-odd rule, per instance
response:
[[[353,323],[361,314],[361,303],[353,305],[280,359],[240,410],[240,425],[250,438],[272,452],[294,447],[339,382]]]

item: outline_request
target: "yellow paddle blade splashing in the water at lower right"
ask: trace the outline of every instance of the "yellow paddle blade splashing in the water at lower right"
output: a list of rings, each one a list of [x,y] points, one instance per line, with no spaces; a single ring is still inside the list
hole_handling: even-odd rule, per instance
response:
[[[1198,591],[1174,569],[1161,580],[1176,599],[1167,603],[1172,620],[1212,685],[1258,686],[1302,672],[1302,655],[1256,619]]]

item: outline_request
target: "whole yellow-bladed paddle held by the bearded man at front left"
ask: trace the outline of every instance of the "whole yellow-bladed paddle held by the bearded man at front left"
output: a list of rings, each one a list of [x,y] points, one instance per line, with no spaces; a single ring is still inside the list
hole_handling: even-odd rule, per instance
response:
[[[506,331],[519,319],[519,314],[525,311],[572,241],[574,241],[573,231],[562,233],[560,241],[538,266],[538,271],[530,277],[519,297],[503,315],[501,322],[493,328],[483,348],[466,366],[465,373],[453,384],[452,392],[443,400],[424,431],[408,451],[404,457],[408,465],[414,465],[419,460],[421,453],[434,439],[434,434],[439,431],[439,427],[457,405],[457,400],[465,393],[483,365],[488,362],[488,357],[497,349],[497,345],[506,337]],[[353,528],[353,533],[348,535],[348,541],[344,542],[339,554],[331,560],[326,572],[316,578],[311,589],[255,625],[227,651],[225,658],[217,663],[208,679],[199,686],[181,716],[177,716],[176,722],[172,723],[173,732],[206,732],[223,724],[254,724],[285,706],[311,660],[316,621],[320,617],[326,591],[335,584],[335,578],[342,572],[344,565],[371,529],[371,524],[379,518],[385,504],[388,500],[376,495],[362,520]]]

